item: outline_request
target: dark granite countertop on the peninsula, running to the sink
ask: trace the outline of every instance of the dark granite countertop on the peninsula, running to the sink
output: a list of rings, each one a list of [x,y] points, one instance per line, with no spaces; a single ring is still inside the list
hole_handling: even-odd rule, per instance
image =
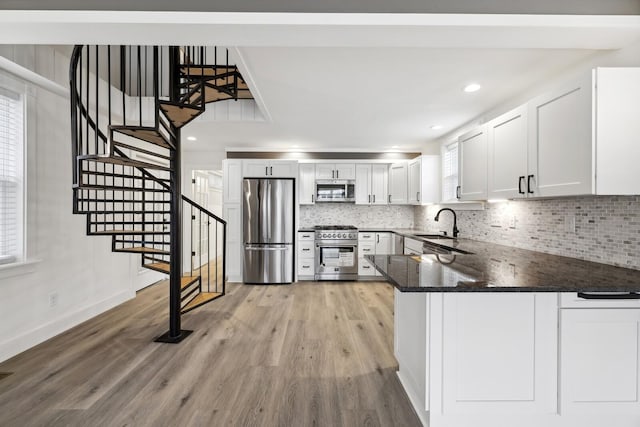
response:
[[[366,258],[403,292],[640,292],[639,270],[468,239],[423,240],[469,253]]]

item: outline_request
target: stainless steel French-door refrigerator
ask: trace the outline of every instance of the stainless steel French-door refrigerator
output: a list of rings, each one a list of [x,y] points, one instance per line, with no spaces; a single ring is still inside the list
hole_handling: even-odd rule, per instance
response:
[[[293,179],[243,180],[245,283],[293,282],[293,183]]]

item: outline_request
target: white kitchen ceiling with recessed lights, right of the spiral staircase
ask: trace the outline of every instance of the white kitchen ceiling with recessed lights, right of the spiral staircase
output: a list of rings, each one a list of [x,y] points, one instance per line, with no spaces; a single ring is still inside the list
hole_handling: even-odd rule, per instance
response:
[[[191,149],[420,150],[558,71],[578,49],[238,49],[266,122],[193,122]],[[463,92],[469,82],[482,89]],[[442,129],[432,130],[432,125]]]

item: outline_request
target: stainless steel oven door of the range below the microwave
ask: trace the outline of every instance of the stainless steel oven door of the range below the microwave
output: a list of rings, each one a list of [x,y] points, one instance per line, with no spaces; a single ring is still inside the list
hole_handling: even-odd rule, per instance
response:
[[[316,242],[316,280],[356,280],[358,244],[344,241]]]

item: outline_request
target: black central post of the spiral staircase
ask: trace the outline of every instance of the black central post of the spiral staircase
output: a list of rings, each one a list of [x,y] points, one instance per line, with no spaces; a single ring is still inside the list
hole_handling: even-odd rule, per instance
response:
[[[157,64],[156,64],[157,65]],[[171,101],[178,101],[180,83],[180,49],[169,47],[169,85]],[[156,86],[157,87],[157,86]],[[156,89],[157,90],[157,89]],[[180,329],[180,279],[182,278],[182,156],[180,129],[172,126],[175,150],[171,153],[171,239],[169,272],[169,331],[156,342],[179,343],[193,331]]]

